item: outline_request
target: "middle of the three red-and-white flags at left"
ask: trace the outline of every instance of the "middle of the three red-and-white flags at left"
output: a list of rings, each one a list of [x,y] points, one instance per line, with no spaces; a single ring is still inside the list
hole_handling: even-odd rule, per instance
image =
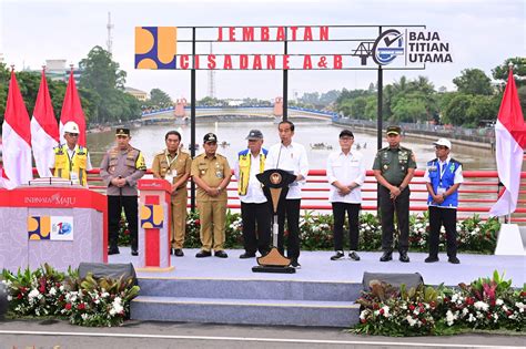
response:
[[[44,70],[31,119],[31,143],[39,176],[51,177],[50,168],[54,166],[53,147],[59,143],[59,125],[54,119]]]

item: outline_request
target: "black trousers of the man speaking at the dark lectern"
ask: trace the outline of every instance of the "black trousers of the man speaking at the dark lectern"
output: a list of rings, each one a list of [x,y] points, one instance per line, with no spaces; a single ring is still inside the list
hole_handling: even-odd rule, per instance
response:
[[[282,254],[284,253],[283,234],[286,218],[286,227],[289,230],[286,256],[293,260],[297,260],[300,257],[300,203],[301,198],[284,199],[277,207],[277,249]]]

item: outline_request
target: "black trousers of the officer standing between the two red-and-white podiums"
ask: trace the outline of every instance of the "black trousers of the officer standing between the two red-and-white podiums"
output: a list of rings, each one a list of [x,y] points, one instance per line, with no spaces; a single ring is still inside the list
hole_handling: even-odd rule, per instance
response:
[[[119,222],[124,207],[128,229],[131,236],[132,249],[138,249],[138,196],[110,196],[108,195],[108,233],[110,248],[117,248],[119,240]]]

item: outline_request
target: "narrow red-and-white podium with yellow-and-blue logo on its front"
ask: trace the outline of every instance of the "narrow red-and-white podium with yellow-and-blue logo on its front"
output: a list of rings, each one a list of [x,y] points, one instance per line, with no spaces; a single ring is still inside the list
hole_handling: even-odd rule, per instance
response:
[[[172,225],[171,185],[164,179],[139,179],[140,271],[168,271]]]

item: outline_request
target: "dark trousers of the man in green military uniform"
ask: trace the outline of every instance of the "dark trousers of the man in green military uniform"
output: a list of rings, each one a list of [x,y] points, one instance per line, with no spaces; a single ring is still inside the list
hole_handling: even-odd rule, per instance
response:
[[[393,250],[395,233],[394,215],[398,222],[398,250],[407,252],[409,247],[409,187],[406,187],[395,201],[391,199],[390,191],[380,186],[380,211],[382,214],[382,249]]]

